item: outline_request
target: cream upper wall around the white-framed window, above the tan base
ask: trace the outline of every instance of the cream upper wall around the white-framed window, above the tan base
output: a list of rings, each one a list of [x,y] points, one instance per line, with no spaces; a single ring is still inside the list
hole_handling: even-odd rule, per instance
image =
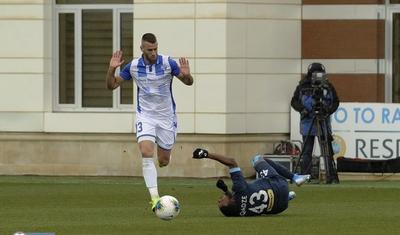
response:
[[[133,114],[52,112],[53,1],[1,4],[1,131],[133,132]],[[301,73],[299,0],[138,0],[134,17],[135,56],[151,31],[161,53],[191,61],[195,85],[174,84],[180,132],[288,133]],[[102,125],[112,119],[119,124]]]

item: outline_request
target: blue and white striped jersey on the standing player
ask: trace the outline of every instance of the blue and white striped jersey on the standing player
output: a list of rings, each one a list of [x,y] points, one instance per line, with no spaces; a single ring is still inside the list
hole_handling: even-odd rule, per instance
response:
[[[135,80],[137,85],[137,112],[152,118],[175,115],[172,96],[172,78],[180,68],[169,56],[158,55],[155,64],[146,64],[142,57],[132,60],[120,72],[124,80]]]

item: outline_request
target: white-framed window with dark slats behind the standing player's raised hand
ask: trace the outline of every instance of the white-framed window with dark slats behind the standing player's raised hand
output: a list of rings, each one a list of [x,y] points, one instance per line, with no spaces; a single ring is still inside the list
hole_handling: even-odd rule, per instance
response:
[[[132,58],[132,8],[132,0],[56,0],[55,110],[133,110],[133,83],[110,91],[105,81],[113,51]]]

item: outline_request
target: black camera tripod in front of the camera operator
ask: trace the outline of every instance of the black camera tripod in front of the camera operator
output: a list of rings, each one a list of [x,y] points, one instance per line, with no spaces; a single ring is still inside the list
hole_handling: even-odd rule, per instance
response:
[[[307,144],[307,141],[310,141],[310,138],[314,138],[315,136],[311,135],[311,130],[316,125],[317,128],[317,133],[316,137],[318,139],[320,151],[321,151],[321,156],[322,159],[324,160],[324,166],[325,166],[325,183],[331,184],[331,183],[339,183],[339,177],[337,175],[337,170],[336,170],[336,164],[333,160],[333,149],[332,149],[332,136],[328,133],[328,124],[326,121],[327,117],[325,115],[322,115],[319,112],[315,113],[315,116],[312,119],[311,126],[308,130],[308,133],[304,139],[303,146],[302,146],[302,151],[300,153],[299,159],[296,163],[295,171],[297,171],[297,168],[300,164],[300,162],[303,159],[304,155],[304,147]],[[314,147],[313,147],[314,148]],[[302,169],[302,174],[305,172],[310,172],[311,167],[312,167],[312,151],[311,151],[311,159],[307,166],[304,166]]]

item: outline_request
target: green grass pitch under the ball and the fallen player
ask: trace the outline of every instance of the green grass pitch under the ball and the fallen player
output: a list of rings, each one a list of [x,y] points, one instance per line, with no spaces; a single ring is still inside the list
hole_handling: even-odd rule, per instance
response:
[[[160,193],[182,207],[163,221],[140,178],[1,176],[0,234],[400,234],[400,182],[290,185],[297,198],[283,213],[226,218],[215,181],[160,179]]]

